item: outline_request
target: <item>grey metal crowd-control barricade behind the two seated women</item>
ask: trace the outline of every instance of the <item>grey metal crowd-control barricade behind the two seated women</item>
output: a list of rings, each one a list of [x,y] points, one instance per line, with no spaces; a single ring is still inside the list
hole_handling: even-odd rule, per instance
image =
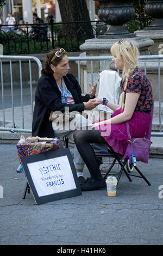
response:
[[[12,127],[5,127],[5,114],[4,114],[4,95],[3,95],[3,65],[2,65],[2,59],[9,59],[10,60],[10,78],[11,78],[11,97],[12,97]],[[3,125],[0,126],[0,130],[2,131],[17,131],[17,132],[31,132],[31,129],[25,129],[24,128],[24,116],[23,116],[23,100],[21,100],[21,107],[22,107],[22,127],[15,128],[15,119],[14,119],[14,104],[13,104],[13,81],[12,81],[12,59],[17,59],[20,61],[20,87],[22,88],[22,70],[21,70],[21,60],[29,60],[29,70],[30,70],[30,90],[31,90],[31,96],[32,96],[32,70],[31,70],[31,60],[35,60],[39,67],[39,77],[41,74],[42,64],[39,59],[35,57],[27,57],[27,56],[0,56],[1,61],[1,83],[2,83],[2,105],[3,105]],[[91,83],[93,84],[93,61],[103,61],[104,62],[104,70],[106,69],[106,61],[111,60],[112,56],[100,56],[100,57],[68,57],[70,61],[75,61],[78,63],[78,81],[80,83],[81,77],[80,77],[80,62],[86,61],[91,62]],[[161,65],[160,62],[163,59],[163,55],[153,55],[153,56],[140,56],[140,60],[144,61],[144,68],[145,68],[145,74],[147,73],[147,61],[148,60],[158,60],[158,92],[159,92],[159,132],[152,132],[152,136],[163,136],[163,132],[161,130]],[[22,89],[21,89],[22,92]],[[22,94],[22,93],[21,93]],[[31,97],[32,99],[32,97]],[[31,101],[31,109],[33,113],[33,102]],[[32,115],[31,115],[32,118]]]

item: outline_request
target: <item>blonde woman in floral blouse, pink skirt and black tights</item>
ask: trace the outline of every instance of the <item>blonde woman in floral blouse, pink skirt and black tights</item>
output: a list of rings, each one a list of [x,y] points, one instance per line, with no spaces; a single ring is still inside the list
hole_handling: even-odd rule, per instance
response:
[[[96,130],[74,132],[74,142],[90,172],[90,178],[80,185],[82,191],[106,186],[90,143],[108,143],[124,155],[128,143],[126,121],[129,121],[131,137],[148,137],[153,95],[151,83],[136,66],[139,51],[133,41],[120,40],[112,45],[111,54],[116,69],[122,70],[120,103],[93,99],[97,105],[103,103],[110,107],[114,114],[110,119],[92,124]]]

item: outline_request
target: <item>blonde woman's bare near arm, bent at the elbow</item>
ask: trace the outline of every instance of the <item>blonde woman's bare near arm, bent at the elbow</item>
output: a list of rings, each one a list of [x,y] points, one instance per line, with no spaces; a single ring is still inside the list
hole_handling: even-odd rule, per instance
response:
[[[119,124],[130,120],[131,117],[133,116],[139,96],[139,93],[127,93],[124,111],[121,114],[118,114],[116,115],[116,117],[89,126],[96,127],[103,124]]]

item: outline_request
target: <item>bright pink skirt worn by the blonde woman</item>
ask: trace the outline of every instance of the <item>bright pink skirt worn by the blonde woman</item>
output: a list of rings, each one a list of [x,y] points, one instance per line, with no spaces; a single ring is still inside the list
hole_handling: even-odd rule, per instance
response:
[[[118,109],[112,117],[121,114],[122,109]],[[112,118],[111,117],[111,118]],[[146,114],[142,111],[135,111],[133,117],[129,120],[129,131],[130,136],[135,138],[148,138],[149,124],[151,120],[151,114]],[[128,135],[126,122],[120,124],[105,124],[98,126],[97,129],[101,132],[101,136],[104,137],[105,141],[111,146],[114,151],[124,155],[128,144]],[[104,131],[106,136],[104,135]]]

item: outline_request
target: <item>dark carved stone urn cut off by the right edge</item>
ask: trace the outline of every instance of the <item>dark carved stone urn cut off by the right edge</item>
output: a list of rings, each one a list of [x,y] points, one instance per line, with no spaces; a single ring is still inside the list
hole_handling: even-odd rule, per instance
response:
[[[146,30],[163,29],[163,1],[162,0],[147,0],[145,5],[146,13],[155,18],[155,21],[146,27]]]

